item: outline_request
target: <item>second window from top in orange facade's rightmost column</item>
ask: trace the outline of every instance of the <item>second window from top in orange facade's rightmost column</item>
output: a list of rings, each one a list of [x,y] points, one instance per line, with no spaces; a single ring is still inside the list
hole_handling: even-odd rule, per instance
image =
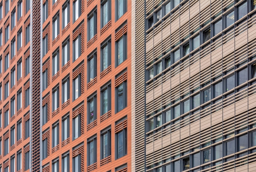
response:
[[[127,40],[126,34],[124,34],[116,42],[116,66],[124,62],[127,58]]]

